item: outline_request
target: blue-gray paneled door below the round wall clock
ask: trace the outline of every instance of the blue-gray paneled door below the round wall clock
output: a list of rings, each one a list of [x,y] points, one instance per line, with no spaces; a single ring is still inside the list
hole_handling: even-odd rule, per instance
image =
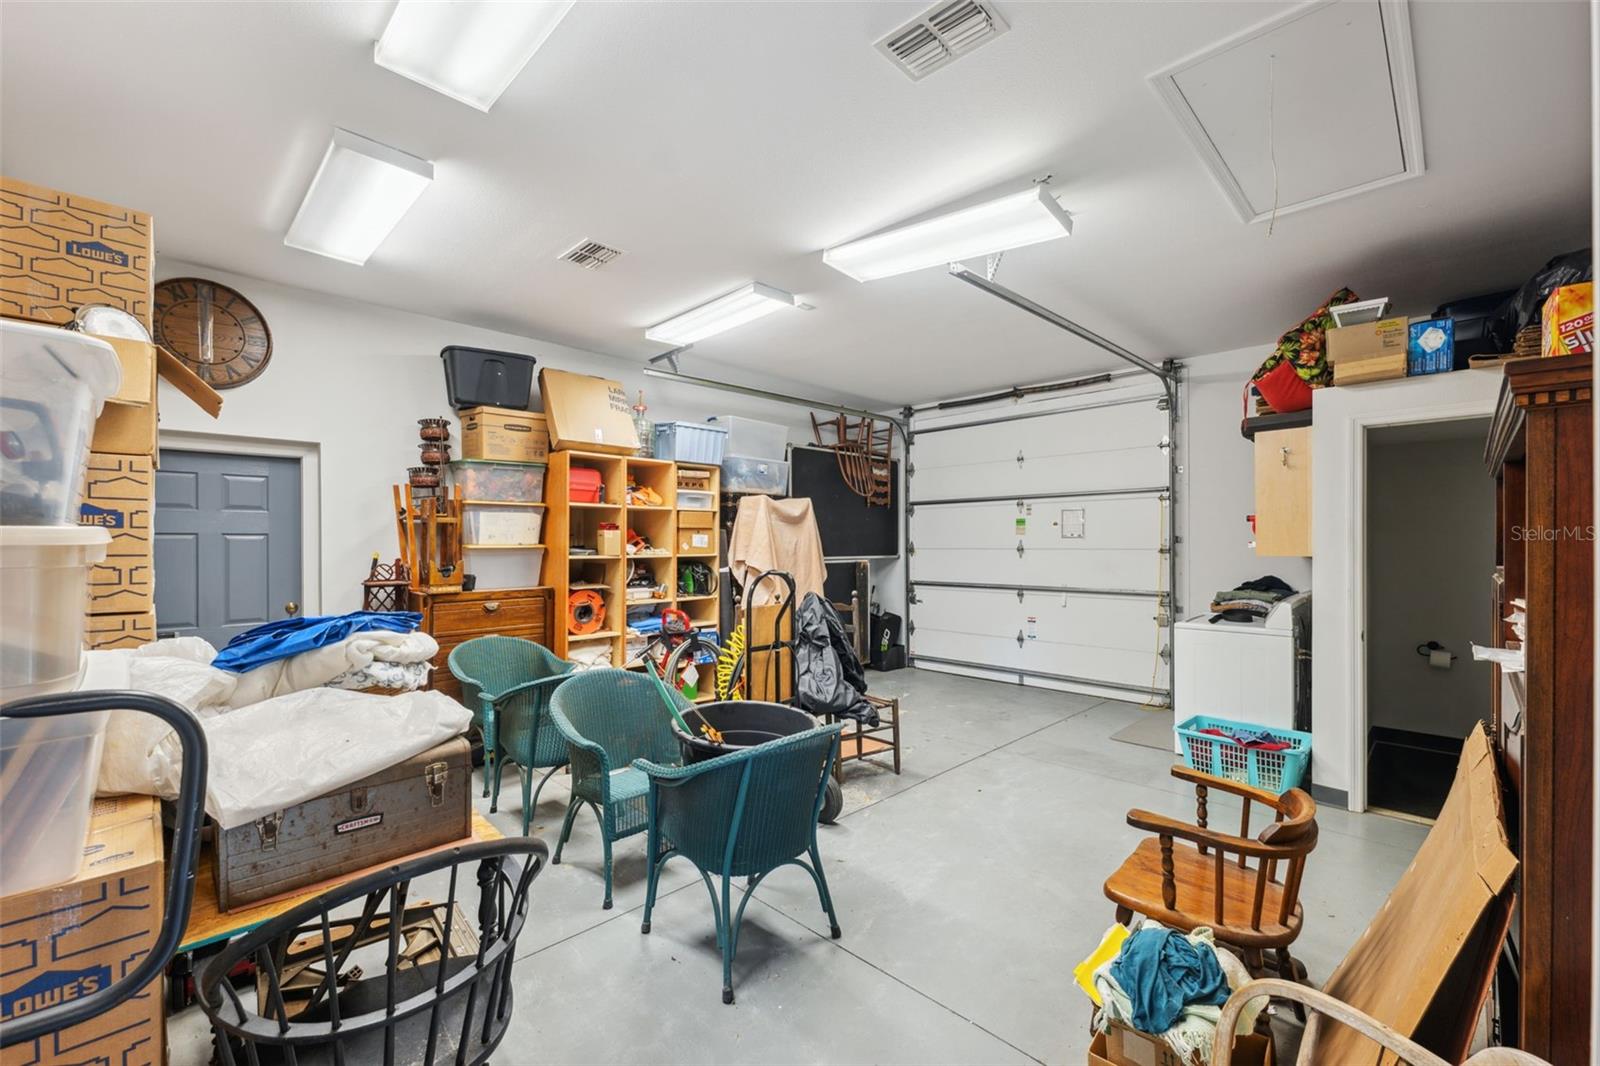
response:
[[[162,448],[155,627],[221,648],[299,611],[299,459]]]

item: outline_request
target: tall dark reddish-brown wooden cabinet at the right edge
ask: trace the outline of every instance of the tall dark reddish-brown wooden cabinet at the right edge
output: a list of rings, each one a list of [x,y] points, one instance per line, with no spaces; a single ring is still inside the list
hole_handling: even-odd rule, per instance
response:
[[[1502,1026],[1507,1042],[1552,1063],[1592,1061],[1592,387],[1589,355],[1507,363],[1485,451],[1498,483],[1496,619],[1510,600],[1528,602],[1526,674],[1493,671],[1493,731],[1522,860]],[[1502,647],[1515,642],[1506,623],[1494,634]]]

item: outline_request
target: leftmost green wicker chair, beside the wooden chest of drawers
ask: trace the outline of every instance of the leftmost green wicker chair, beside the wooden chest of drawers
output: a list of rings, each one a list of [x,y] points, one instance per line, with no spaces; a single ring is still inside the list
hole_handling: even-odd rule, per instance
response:
[[[501,771],[517,763],[522,776],[522,836],[544,783],[566,765],[566,738],[550,720],[550,695],[573,672],[573,664],[522,637],[475,637],[450,653],[450,672],[461,682],[462,701],[483,733],[483,795],[499,810]],[[539,787],[533,771],[544,770]]]

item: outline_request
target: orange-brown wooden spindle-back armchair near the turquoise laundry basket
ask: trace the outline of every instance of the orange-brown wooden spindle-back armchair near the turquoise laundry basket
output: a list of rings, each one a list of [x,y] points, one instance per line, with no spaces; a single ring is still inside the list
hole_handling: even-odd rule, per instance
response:
[[[1173,767],[1173,776],[1195,786],[1195,824],[1147,810],[1128,812],[1130,826],[1155,836],[1106,879],[1117,920],[1126,924],[1138,912],[1186,933],[1208,925],[1219,943],[1240,951],[1253,975],[1272,968],[1282,978],[1304,980],[1306,968],[1290,956],[1290,944],[1301,930],[1306,856],[1317,847],[1317,802],[1301,789],[1275,795],[1181,765]],[[1211,789],[1240,797],[1237,837],[1208,828]],[[1275,815],[1254,837],[1251,804]],[[1267,952],[1274,956],[1270,964]]]

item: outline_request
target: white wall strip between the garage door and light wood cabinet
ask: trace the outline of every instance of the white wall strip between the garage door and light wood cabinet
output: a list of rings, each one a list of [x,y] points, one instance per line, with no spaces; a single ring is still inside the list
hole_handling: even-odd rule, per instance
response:
[[[1179,407],[1182,493],[1178,552],[1182,613],[1205,613],[1211,594],[1264,575],[1310,587],[1310,559],[1262,557],[1250,546],[1246,515],[1256,511],[1254,445],[1238,432],[1250,375],[1270,344],[1184,360]]]

